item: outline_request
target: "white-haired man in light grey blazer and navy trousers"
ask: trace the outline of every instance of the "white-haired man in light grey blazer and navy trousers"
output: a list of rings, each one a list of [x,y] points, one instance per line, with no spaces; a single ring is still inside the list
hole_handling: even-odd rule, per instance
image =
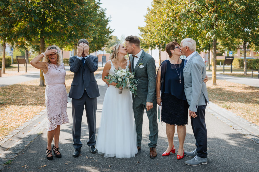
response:
[[[187,165],[207,164],[207,129],[205,124],[205,108],[209,103],[206,84],[205,64],[196,50],[196,42],[191,38],[181,41],[180,50],[186,56],[184,61],[184,92],[189,104],[189,116],[196,139],[196,149],[192,152],[184,151],[184,155],[194,157],[186,161]]]

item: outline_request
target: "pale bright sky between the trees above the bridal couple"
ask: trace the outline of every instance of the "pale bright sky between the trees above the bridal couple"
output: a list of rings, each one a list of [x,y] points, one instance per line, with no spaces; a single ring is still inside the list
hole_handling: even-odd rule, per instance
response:
[[[107,17],[111,16],[109,26],[114,29],[112,35],[119,39],[124,34],[139,36],[138,26],[144,26],[144,15],[153,0],[101,0],[101,7],[106,8]]]

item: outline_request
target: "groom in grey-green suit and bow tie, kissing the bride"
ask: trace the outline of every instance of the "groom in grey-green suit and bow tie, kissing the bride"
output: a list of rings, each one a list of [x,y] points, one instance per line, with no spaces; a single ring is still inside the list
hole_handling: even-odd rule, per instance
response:
[[[137,86],[137,96],[132,98],[138,150],[141,148],[143,114],[146,108],[149,120],[149,156],[150,158],[155,158],[157,156],[156,146],[158,137],[155,60],[151,55],[140,49],[140,40],[137,36],[127,36],[125,38],[125,47],[127,52],[131,54],[129,56],[131,71],[135,72],[136,80],[140,81]]]

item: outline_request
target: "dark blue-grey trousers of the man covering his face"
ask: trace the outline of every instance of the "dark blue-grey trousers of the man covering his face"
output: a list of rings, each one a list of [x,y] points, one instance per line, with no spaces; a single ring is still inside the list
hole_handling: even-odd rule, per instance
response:
[[[87,142],[88,146],[93,146],[96,143],[96,110],[97,110],[97,98],[90,98],[86,91],[84,91],[83,96],[80,99],[72,99],[72,116],[73,116],[73,147],[75,149],[82,147],[81,138],[81,124],[82,116],[85,108],[89,140]]]

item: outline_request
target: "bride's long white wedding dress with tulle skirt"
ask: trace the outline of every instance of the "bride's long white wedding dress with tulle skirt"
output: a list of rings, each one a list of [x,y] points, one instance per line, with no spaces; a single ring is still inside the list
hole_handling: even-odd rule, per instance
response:
[[[111,61],[111,60],[110,60]],[[129,60],[126,68],[129,66]],[[111,62],[110,74],[115,67]],[[132,94],[110,85],[105,93],[96,148],[104,157],[131,158],[138,153]]]

